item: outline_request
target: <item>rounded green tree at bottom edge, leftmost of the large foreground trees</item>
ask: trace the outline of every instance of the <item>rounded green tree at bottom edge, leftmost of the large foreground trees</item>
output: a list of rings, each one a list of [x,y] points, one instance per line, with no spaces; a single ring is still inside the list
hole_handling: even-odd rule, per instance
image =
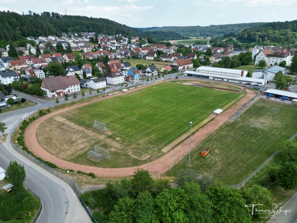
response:
[[[133,223],[134,200],[122,198],[114,206],[114,211],[109,213],[109,223]]]

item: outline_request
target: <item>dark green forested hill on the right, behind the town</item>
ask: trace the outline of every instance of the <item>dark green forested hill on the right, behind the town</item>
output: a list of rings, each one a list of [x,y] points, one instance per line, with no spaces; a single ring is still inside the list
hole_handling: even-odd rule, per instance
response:
[[[225,35],[229,36],[234,35]],[[297,20],[266,23],[245,29],[234,37],[242,43],[297,47]]]

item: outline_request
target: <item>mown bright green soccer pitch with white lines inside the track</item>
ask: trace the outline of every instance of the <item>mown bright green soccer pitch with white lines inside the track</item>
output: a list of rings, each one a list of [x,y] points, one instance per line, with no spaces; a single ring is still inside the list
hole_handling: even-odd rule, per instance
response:
[[[234,92],[166,83],[69,111],[65,117],[85,127],[98,120],[120,137],[159,149],[188,131],[190,121],[197,125],[237,96]]]

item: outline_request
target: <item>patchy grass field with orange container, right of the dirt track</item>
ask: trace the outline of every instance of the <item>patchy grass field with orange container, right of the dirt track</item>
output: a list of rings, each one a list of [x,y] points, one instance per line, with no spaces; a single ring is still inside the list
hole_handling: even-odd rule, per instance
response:
[[[191,167],[224,184],[242,182],[296,132],[296,109],[259,100],[239,120],[225,123],[198,145],[191,152]],[[250,127],[252,121],[264,124],[264,129]],[[207,158],[200,156],[204,148],[210,150]],[[165,175],[175,176],[177,170],[187,168],[188,159],[184,157]]]

